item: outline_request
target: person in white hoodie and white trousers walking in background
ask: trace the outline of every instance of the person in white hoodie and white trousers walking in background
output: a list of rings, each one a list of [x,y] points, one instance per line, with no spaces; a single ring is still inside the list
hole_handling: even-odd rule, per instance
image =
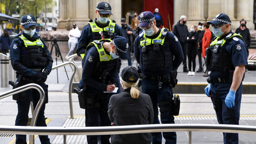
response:
[[[68,55],[66,56],[66,59],[68,59],[68,57],[73,54],[73,51],[74,51],[74,49],[76,47],[76,44],[78,42],[78,38],[80,37],[80,35],[81,35],[81,32],[78,29],[78,27],[76,27],[76,24],[74,23],[73,24],[73,28],[68,33],[68,37],[69,37],[69,40],[68,40],[69,52],[68,52]]]

